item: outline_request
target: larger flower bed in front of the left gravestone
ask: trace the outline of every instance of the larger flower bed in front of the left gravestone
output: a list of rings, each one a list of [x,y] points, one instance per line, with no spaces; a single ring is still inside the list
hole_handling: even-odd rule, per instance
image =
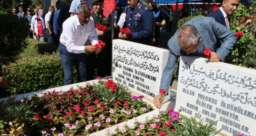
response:
[[[0,105],[1,134],[89,135],[151,111],[142,98],[103,79],[79,90],[43,92],[20,101],[9,98]]]

